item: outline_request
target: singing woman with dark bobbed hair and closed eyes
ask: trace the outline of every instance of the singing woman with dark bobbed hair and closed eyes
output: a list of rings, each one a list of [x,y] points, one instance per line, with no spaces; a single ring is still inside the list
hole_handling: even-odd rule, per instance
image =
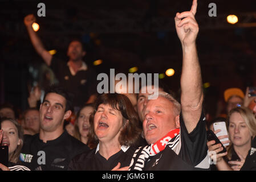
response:
[[[90,137],[97,147],[72,159],[70,170],[108,171],[120,163],[127,167],[137,147],[141,129],[131,101],[123,94],[101,94],[90,117]]]

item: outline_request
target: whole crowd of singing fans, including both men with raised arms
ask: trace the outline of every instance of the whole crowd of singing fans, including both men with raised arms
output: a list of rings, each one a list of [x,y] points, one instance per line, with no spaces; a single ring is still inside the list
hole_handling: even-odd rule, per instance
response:
[[[0,168],[255,170],[256,96],[249,97],[249,88],[245,93],[230,88],[224,93],[226,115],[209,119],[204,110],[196,9],[194,0],[190,11],[175,17],[183,53],[178,97],[162,85],[141,86],[132,94],[97,94],[95,73],[82,60],[82,43],[73,40],[67,52],[70,60],[62,63],[32,31],[35,17],[26,16],[31,42],[59,84],[44,88],[44,93],[36,87],[27,98],[30,108],[22,114],[11,105],[0,107],[0,144],[9,148],[9,164]],[[153,93],[156,99],[150,99],[148,86],[159,90]],[[225,123],[227,134],[218,135],[218,122]],[[207,130],[214,131],[224,146],[209,140]],[[226,152],[221,152],[224,147]]]

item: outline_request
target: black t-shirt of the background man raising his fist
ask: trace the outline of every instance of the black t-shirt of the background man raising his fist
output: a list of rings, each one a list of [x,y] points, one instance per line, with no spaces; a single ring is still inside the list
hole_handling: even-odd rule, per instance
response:
[[[74,106],[83,106],[92,94],[97,93],[97,75],[91,67],[72,76],[67,62],[56,57],[52,57],[50,67],[59,80],[59,85],[74,94]]]

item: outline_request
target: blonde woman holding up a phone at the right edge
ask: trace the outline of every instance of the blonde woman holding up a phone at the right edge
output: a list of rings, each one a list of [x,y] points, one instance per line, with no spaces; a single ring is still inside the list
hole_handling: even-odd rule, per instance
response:
[[[218,154],[223,148],[220,144],[209,141],[209,151],[217,153],[216,167],[220,171],[239,171],[251,150],[252,140],[256,135],[256,119],[253,111],[247,107],[235,107],[228,115],[228,130],[231,144],[227,147],[227,152]]]

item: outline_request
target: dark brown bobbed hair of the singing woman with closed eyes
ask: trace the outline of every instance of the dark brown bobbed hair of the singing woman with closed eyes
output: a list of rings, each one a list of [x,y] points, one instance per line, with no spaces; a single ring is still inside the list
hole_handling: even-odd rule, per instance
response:
[[[121,146],[136,146],[137,140],[141,134],[139,116],[134,110],[129,98],[123,94],[104,93],[96,99],[94,111],[90,117],[91,127],[89,136],[98,140],[94,131],[94,116],[97,111],[97,107],[99,107],[100,104],[110,105],[113,109],[121,112],[121,115],[123,116],[123,129],[119,136],[119,143]]]

